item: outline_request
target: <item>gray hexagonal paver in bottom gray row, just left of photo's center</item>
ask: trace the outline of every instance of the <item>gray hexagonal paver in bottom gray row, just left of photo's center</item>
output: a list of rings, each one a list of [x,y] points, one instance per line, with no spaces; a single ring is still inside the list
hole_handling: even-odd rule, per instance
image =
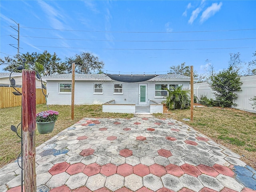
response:
[[[111,175],[107,177],[105,186],[112,191],[116,191],[124,186],[124,177],[118,174]]]

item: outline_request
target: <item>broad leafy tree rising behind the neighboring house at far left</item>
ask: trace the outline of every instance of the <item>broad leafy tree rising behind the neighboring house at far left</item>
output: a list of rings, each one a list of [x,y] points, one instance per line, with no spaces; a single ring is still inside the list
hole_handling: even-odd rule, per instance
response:
[[[22,65],[22,59],[26,59],[26,66],[31,66],[37,70],[42,76],[49,76],[50,74],[66,73],[66,64],[60,62],[61,59],[54,54],[50,54],[48,51],[43,53],[29,53],[22,55],[15,55],[13,58],[5,57],[4,60],[0,60],[1,64],[8,64],[4,68],[6,71],[12,71],[15,67]],[[15,71],[20,72],[20,71]]]

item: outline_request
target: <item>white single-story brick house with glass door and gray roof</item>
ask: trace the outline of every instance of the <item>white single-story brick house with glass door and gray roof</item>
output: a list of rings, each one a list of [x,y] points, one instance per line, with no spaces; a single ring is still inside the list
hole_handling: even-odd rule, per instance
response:
[[[43,77],[47,81],[48,104],[70,105],[72,74]],[[75,74],[74,104],[150,105],[150,100],[161,102],[170,86],[190,87],[190,77],[176,74],[114,75]]]

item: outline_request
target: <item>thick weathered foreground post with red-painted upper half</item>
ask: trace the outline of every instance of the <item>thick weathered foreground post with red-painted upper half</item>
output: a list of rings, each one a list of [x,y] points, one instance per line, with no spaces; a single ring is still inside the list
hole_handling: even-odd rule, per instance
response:
[[[36,192],[36,73],[22,70],[22,140],[25,192]]]

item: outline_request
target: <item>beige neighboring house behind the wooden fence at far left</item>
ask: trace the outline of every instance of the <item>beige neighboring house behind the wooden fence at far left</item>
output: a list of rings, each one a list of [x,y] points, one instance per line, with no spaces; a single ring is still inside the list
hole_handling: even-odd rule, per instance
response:
[[[0,73],[0,87],[11,87],[10,73]],[[22,73],[12,73],[11,78],[15,80],[15,87],[22,87]],[[42,83],[46,85],[46,81],[42,80]],[[36,88],[42,88],[41,80],[36,78]]]

